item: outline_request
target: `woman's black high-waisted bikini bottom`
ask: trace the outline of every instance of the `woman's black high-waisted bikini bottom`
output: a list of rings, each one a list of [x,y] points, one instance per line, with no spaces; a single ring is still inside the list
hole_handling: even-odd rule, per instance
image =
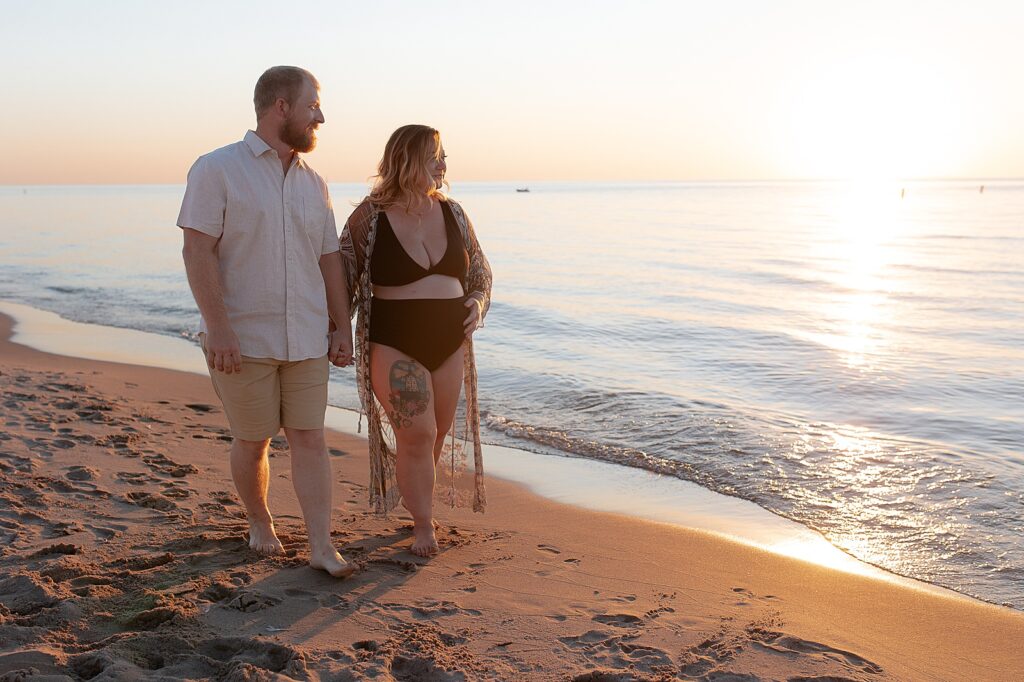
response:
[[[391,346],[433,372],[466,339],[466,297],[370,302],[370,342]]]

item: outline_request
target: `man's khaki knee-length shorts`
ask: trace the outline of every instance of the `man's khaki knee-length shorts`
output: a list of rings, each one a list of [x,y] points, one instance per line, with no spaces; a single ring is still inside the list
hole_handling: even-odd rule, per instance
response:
[[[210,379],[224,404],[231,435],[265,440],[283,426],[324,428],[330,372],[327,355],[295,363],[243,355],[241,374],[210,370]]]

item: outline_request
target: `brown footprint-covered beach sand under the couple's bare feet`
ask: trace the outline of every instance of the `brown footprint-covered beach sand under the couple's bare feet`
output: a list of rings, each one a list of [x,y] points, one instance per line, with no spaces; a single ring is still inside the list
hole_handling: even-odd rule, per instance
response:
[[[824,568],[492,478],[441,552],[367,508],[366,442],[330,433],[333,536],[307,565],[244,540],[207,379],[2,341],[0,680],[1015,680],[1024,614]]]

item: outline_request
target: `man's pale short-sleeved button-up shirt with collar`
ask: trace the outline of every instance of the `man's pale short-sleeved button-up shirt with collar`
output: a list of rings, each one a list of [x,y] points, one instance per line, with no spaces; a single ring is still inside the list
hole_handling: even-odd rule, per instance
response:
[[[294,361],[327,354],[319,257],[338,250],[338,227],[327,183],[298,155],[286,174],[278,153],[250,130],[200,157],[178,226],[219,238],[224,305],[243,355]]]

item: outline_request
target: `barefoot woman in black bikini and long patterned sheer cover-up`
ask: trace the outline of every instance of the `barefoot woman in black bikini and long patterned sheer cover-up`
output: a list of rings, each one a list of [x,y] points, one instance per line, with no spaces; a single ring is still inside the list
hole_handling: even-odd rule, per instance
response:
[[[441,191],[445,170],[435,129],[398,128],[370,196],[341,235],[350,309],[358,310],[356,381],[370,425],[370,501],[381,513],[404,505],[420,556],[437,552],[433,492],[442,453],[456,504],[460,464],[472,451],[473,509],[484,506],[472,336],[490,302],[490,265],[462,207]]]

